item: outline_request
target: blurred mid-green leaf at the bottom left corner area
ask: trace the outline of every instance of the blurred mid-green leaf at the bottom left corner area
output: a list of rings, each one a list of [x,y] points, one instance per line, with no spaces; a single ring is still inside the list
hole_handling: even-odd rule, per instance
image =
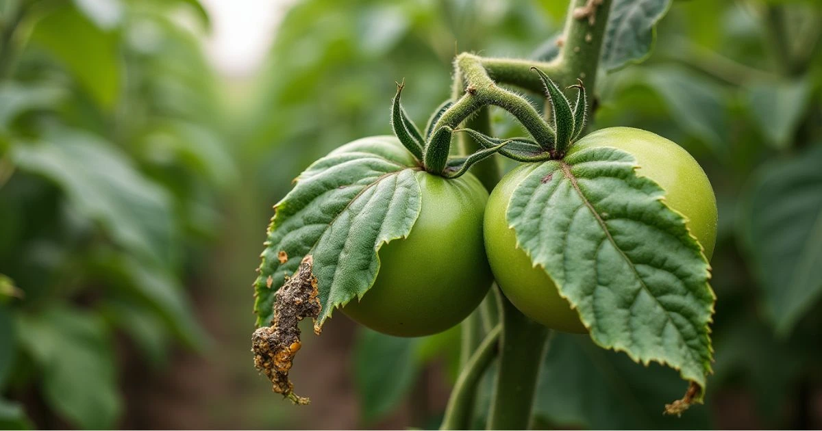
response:
[[[111,429],[122,412],[113,343],[94,314],[52,307],[24,315],[17,331],[39,365],[48,406],[76,428]]]

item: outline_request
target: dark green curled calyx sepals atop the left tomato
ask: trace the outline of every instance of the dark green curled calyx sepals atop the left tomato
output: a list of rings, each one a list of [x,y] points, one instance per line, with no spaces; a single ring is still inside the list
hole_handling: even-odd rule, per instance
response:
[[[461,177],[474,163],[478,163],[485,158],[498,153],[512,141],[506,140],[496,144],[484,146],[483,149],[464,157],[450,157],[451,137],[454,129],[449,126],[441,126],[434,130],[437,120],[453,104],[450,100],[441,103],[436,108],[432,117],[428,120],[426,134],[423,137],[416,125],[405,113],[402,104],[399,102],[400,95],[405,87],[405,82],[397,83],[397,93],[391,105],[391,127],[394,134],[408,149],[423,170],[446,178]]]

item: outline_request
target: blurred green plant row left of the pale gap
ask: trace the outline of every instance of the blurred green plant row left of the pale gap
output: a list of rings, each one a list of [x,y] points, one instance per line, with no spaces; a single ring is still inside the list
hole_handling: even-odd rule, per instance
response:
[[[173,13],[208,25],[196,1],[0,2],[0,391],[42,399],[38,426],[117,426],[120,334],[155,368],[207,341],[183,286],[236,172]]]

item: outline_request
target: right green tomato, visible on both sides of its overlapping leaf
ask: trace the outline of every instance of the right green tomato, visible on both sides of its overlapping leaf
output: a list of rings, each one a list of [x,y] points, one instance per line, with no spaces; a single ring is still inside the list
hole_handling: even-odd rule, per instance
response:
[[[665,190],[665,201],[685,215],[687,226],[710,259],[717,231],[717,204],[708,177],[685,149],[662,136],[630,127],[611,127],[577,141],[569,151],[614,147],[636,158],[639,175],[656,181]],[[549,328],[584,333],[580,316],[559,295],[543,268],[534,268],[506,222],[511,194],[527,174],[524,165],[502,178],[488,199],[485,212],[485,245],[496,283],[523,314]]]

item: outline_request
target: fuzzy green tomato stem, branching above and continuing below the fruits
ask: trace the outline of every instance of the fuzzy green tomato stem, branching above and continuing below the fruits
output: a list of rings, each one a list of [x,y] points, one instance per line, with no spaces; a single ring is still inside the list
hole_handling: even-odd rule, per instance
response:
[[[579,78],[593,94],[611,5],[612,0],[570,0],[565,30],[560,39],[561,50],[551,62],[459,54],[454,62],[454,104],[442,113],[433,130],[443,126],[456,129],[468,120],[469,128],[492,135],[487,107],[495,105],[516,117],[543,148],[554,149],[556,131],[543,115],[528,99],[497,84],[515,85],[543,94],[543,81],[538,73],[531,70],[536,67],[562,87],[576,84]],[[550,106],[546,108],[546,112],[551,112]],[[479,147],[469,136],[460,136],[459,140],[462,154],[470,154]],[[501,174],[493,158],[472,171],[489,190],[496,185]],[[489,352],[496,351],[492,350],[492,346],[497,344],[496,335],[491,337],[494,332],[501,332],[498,342],[501,359],[487,427],[525,429],[530,423],[549,330],[521,314],[501,292],[496,291],[496,297],[496,313],[499,314],[497,319],[501,320],[501,329],[496,326],[476,350],[477,316],[472,315],[464,322],[462,374],[451,394],[442,429],[469,428],[476,382],[487,367],[487,362],[490,363],[492,354]]]

